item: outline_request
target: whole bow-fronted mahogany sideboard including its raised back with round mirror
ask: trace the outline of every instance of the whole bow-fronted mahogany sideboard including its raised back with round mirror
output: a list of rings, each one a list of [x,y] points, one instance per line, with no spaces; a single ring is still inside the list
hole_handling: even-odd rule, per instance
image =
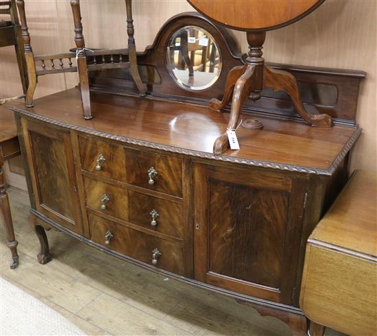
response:
[[[108,60],[126,62],[127,50],[120,52]],[[40,263],[51,260],[44,227],[52,226],[252,305],[305,335],[299,297],[306,241],[348,179],[365,73],[266,64],[265,73],[290,79],[295,99],[260,77],[259,99],[243,99],[237,115],[240,149],[214,150],[233,117],[213,102],[223,99],[229,110],[232,73],[245,69],[247,57],[226,29],[182,13],[137,54],[145,97],[121,67],[91,73],[93,119],[82,117],[78,88],[13,106]],[[106,63],[86,58],[88,66]],[[334,126],[312,127],[303,110]],[[258,129],[250,128],[251,116]]]

